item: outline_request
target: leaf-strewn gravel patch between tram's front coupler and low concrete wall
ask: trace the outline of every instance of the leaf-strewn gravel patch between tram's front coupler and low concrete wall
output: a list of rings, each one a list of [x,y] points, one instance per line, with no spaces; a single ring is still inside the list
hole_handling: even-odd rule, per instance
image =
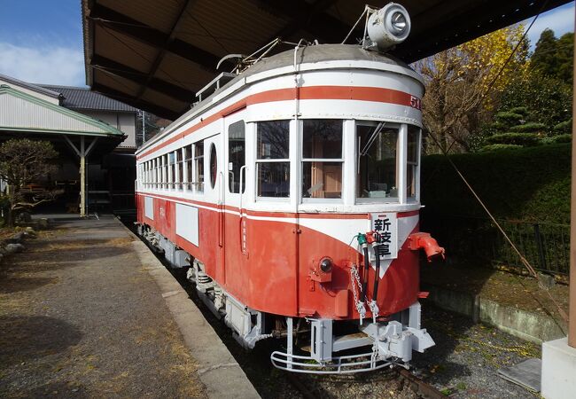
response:
[[[436,346],[414,354],[416,376],[455,398],[534,396],[500,378],[497,371],[541,357],[540,346],[432,305],[424,304],[422,313]]]

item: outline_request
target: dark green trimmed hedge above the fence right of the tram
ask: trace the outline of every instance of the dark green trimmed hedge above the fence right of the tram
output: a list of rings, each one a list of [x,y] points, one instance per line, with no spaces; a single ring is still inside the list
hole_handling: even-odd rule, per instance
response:
[[[486,206],[501,219],[570,223],[571,145],[450,155]],[[444,155],[422,160],[427,215],[486,217]]]

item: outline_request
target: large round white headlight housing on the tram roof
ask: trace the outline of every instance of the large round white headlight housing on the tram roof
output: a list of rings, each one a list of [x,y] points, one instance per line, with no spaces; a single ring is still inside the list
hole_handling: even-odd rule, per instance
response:
[[[401,4],[389,3],[378,12],[373,12],[368,19],[368,36],[385,51],[402,43],[410,34],[410,16]]]

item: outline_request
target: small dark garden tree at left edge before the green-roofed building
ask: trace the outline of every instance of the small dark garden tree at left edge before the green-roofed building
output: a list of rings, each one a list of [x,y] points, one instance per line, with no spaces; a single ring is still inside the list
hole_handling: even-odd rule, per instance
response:
[[[39,179],[56,170],[51,160],[58,153],[50,142],[33,141],[27,138],[11,139],[0,145],[0,179],[7,184],[4,193],[8,201],[8,215],[6,224],[14,225],[15,216],[31,207],[53,200],[58,192],[44,191],[34,196],[23,192],[28,184],[38,182]]]

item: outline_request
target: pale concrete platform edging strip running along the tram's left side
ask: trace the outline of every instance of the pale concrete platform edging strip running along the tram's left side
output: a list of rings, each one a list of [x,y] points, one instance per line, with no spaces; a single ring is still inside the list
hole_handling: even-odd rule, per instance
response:
[[[136,239],[132,242],[134,252],[144,270],[156,280],[168,309],[172,313],[186,346],[198,364],[198,377],[211,398],[260,398],[236,359],[208,324],[200,310],[151,250],[129,231],[120,221],[122,228]]]

